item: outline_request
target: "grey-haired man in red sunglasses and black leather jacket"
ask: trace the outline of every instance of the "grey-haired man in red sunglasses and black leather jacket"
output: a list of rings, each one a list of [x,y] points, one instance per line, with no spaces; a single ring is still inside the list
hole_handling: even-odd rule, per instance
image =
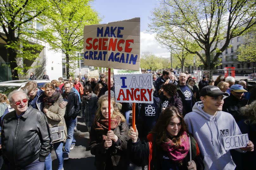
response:
[[[9,169],[44,169],[52,138],[46,116],[28,106],[27,91],[15,90],[8,96],[14,111],[2,121],[2,152]]]

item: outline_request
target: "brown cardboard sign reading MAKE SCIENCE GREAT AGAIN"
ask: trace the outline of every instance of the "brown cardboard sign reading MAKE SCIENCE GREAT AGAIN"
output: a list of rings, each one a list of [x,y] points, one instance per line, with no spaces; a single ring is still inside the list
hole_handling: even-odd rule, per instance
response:
[[[139,70],[140,18],[85,26],[84,64]]]

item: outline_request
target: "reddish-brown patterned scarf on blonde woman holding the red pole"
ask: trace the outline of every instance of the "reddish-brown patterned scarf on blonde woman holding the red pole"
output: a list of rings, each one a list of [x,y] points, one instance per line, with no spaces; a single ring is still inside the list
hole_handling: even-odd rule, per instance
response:
[[[112,118],[110,121],[111,121],[110,129],[113,131],[118,125],[120,125],[121,117],[117,116],[115,118]],[[108,120],[101,117],[99,121],[94,122],[94,128],[97,132],[101,133],[103,139],[106,140],[106,137],[107,137],[106,135],[108,132]]]

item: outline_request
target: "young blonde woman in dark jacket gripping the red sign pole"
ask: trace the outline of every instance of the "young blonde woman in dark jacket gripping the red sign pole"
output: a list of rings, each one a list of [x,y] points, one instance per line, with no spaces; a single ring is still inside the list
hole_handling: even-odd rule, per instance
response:
[[[94,165],[97,169],[125,170],[130,164],[126,153],[129,128],[115,98],[110,100],[111,130],[108,131],[108,95],[103,95],[98,100],[89,147],[91,154],[95,155]]]

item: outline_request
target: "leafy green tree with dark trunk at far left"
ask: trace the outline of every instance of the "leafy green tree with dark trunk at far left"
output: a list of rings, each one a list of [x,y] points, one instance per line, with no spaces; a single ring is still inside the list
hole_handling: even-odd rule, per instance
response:
[[[0,24],[4,34],[0,38],[5,42],[7,62],[12,72],[12,79],[18,79],[31,67],[23,64],[23,60],[34,61],[42,46],[35,43],[35,18],[44,15],[49,7],[47,0],[1,0]],[[36,66],[40,67],[40,66]]]

